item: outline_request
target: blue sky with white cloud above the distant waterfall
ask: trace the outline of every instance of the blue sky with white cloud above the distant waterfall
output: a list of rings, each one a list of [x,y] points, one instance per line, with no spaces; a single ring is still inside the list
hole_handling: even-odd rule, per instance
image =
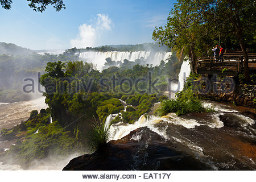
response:
[[[63,0],[66,9],[48,6],[38,13],[26,0],[0,7],[0,42],[33,50],[85,48],[154,42],[155,26],[164,26],[172,0]]]

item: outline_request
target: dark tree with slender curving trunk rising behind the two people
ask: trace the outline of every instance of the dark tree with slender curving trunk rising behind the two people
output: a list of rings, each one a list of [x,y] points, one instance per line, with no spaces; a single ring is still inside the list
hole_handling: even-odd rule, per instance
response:
[[[248,55],[246,45],[246,34],[255,35],[255,1],[254,0],[225,0],[216,3],[216,15],[211,14],[214,22],[222,23],[224,26],[232,27],[245,57],[244,70],[245,80],[250,82]],[[214,16],[214,17],[213,17]],[[218,27],[220,30],[221,27]]]

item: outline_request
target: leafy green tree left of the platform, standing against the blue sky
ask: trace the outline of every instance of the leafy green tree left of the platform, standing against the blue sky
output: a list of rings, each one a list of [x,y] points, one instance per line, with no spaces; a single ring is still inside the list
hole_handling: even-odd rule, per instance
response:
[[[166,26],[156,28],[152,35],[154,40],[174,48],[177,54],[189,55],[192,72],[195,71],[196,55],[207,53],[209,42],[212,42],[213,35],[210,34],[213,32],[210,32],[210,27],[203,23],[202,16],[202,11],[209,9],[207,2],[179,0],[171,10]],[[199,5],[195,5],[196,3],[199,3],[200,9]],[[202,39],[205,32],[208,32],[208,35]]]

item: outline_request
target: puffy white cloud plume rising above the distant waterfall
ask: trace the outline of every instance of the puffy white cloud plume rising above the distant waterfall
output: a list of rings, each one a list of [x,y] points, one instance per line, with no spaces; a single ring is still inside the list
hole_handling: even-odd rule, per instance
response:
[[[113,26],[108,15],[97,14],[97,18],[90,24],[85,23],[79,26],[79,34],[76,39],[71,39],[71,46],[77,48],[97,46],[101,34],[104,31],[112,30]]]

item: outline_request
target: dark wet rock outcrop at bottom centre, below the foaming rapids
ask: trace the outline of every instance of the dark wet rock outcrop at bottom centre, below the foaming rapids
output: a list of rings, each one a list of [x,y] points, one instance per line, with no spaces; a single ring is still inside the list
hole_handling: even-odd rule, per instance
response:
[[[72,159],[63,170],[203,170],[200,160],[147,127],[111,140],[101,151]]]

